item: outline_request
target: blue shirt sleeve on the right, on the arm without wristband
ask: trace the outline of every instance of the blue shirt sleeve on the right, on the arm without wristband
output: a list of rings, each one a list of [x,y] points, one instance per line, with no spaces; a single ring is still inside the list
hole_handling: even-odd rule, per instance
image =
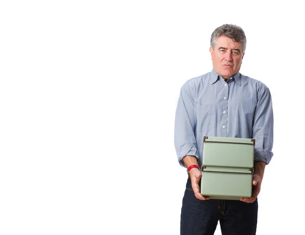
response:
[[[253,139],[255,139],[254,161],[264,161],[268,164],[273,156],[273,110],[268,88],[258,94],[253,119]]]

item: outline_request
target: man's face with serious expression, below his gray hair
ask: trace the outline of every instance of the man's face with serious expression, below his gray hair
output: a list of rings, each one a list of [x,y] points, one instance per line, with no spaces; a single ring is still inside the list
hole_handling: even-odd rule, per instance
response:
[[[240,70],[243,55],[241,42],[233,42],[231,38],[221,36],[217,40],[215,49],[209,49],[213,61],[213,68],[217,74],[227,79]]]

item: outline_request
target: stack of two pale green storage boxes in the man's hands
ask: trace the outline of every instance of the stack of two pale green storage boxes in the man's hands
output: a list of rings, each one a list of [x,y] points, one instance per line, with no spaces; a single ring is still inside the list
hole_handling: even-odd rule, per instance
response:
[[[211,199],[251,197],[255,139],[204,137],[201,194]]]

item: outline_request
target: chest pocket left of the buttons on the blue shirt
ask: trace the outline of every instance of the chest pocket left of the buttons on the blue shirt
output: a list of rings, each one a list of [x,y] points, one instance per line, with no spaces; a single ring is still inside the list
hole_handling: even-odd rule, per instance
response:
[[[216,108],[210,104],[197,105],[197,131],[207,131],[216,128]]]

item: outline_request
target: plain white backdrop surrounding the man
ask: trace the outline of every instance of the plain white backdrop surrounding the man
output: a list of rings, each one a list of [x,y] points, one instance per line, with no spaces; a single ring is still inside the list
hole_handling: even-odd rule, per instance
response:
[[[179,234],[176,102],[224,23],[273,100],[257,234],[303,234],[300,1],[209,2],[1,2],[1,234]]]

